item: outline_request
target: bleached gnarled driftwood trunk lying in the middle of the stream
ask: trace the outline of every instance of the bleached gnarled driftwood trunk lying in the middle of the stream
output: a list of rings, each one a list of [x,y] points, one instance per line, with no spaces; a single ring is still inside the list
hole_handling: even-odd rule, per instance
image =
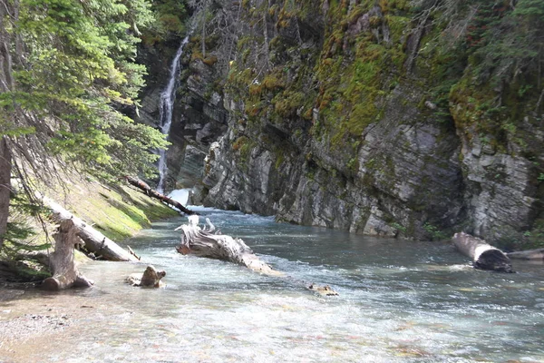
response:
[[[202,230],[199,227],[199,216],[189,216],[189,224],[183,224],[176,229],[182,231],[181,243],[176,248],[178,252],[183,255],[190,253],[199,257],[227,260],[266,275],[283,275],[259,260],[243,240],[219,234],[209,219],[206,221],[209,228]]]

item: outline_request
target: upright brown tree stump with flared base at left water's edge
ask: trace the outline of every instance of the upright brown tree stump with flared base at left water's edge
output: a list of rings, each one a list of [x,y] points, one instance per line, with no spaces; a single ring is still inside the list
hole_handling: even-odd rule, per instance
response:
[[[42,287],[49,290],[69,289],[72,287],[91,287],[88,280],[76,269],[73,260],[74,245],[79,243],[73,221],[62,221],[59,230],[53,234],[54,251],[50,257],[53,277],[45,279]]]

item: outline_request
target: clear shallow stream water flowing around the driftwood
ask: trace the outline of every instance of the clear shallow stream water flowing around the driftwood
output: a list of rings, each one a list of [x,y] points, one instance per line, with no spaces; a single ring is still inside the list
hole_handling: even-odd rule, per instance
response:
[[[166,289],[123,283],[143,265],[83,266],[97,287],[64,293],[93,306],[69,349],[48,361],[544,361],[544,268],[472,270],[452,246],[373,239],[200,209],[287,277],[181,256],[186,219],[155,223],[129,244],[166,270]],[[331,285],[339,297],[305,289]],[[55,298],[59,299],[59,298]],[[0,359],[1,360],[1,359]]]

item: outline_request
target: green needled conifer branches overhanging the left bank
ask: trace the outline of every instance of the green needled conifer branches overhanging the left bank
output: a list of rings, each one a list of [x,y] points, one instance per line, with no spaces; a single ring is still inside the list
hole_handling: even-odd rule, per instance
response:
[[[0,247],[10,175],[59,167],[112,178],[152,172],[160,132],[118,110],[136,107],[145,68],[135,63],[145,0],[0,0]],[[13,171],[12,171],[13,167]]]

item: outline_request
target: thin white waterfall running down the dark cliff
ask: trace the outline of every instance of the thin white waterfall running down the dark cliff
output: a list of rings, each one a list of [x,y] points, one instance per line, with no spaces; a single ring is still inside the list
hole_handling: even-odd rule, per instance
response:
[[[160,132],[165,135],[170,133],[170,126],[172,124],[172,112],[174,109],[174,102],[176,101],[176,88],[178,84],[178,76],[180,75],[180,58],[183,54],[183,48],[189,43],[189,35],[187,35],[180,44],[176,56],[170,65],[170,77],[168,84],[162,93],[160,93]],[[164,191],[164,180],[168,167],[166,165],[166,150],[160,150],[159,152],[159,184],[157,185],[157,191],[162,193]]]

